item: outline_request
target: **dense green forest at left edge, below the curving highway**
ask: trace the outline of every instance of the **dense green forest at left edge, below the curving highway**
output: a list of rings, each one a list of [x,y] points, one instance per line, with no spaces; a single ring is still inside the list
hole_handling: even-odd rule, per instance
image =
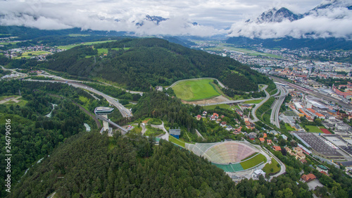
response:
[[[18,103],[0,104],[0,144],[5,145],[5,119],[11,119],[11,163],[12,182],[15,184],[35,161],[51,154],[65,138],[85,131],[83,123],[96,129],[96,122],[80,110],[80,105],[93,112],[96,106],[107,106],[103,100],[95,100],[82,89],[62,83],[23,82],[20,80],[1,81],[0,97],[21,97]],[[85,99],[84,102],[81,99]],[[46,117],[56,104],[51,118]],[[1,149],[4,156],[5,149]],[[5,170],[6,161],[0,161],[0,169]],[[4,178],[5,171],[0,172]],[[4,180],[0,181],[1,196]]]

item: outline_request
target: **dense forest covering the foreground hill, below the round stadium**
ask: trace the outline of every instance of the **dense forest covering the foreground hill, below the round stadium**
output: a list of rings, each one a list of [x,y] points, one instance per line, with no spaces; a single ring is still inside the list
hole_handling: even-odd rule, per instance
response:
[[[98,132],[65,140],[34,165],[8,197],[311,197],[280,176],[235,185],[220,169],[170,142]]]

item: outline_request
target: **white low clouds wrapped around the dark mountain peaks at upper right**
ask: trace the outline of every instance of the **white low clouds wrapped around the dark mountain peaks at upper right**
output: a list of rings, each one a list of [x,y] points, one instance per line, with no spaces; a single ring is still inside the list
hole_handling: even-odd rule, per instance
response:
[[[256,19],[232,25],[230,37],[250,38],[352,38],[352,2],[324,1],[303,14],[272,9]]]

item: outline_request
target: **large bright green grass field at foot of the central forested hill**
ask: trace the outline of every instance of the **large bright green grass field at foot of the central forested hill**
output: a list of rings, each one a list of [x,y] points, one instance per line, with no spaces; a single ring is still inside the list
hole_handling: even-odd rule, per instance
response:
[[[220,96],[211,79],[186,80],[172,87],[176,97],[185,101],[196,101]]]

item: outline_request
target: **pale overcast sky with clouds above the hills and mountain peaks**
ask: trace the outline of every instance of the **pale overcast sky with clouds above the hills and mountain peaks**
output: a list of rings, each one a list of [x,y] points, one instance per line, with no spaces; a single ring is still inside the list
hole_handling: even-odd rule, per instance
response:
[[[132,31],[139,35],[208,36],[226,34],[229,27],[241,28],[239,25],[243,25],[244,20],[256,18],[273,7],[284,6],[294,13],[305,13],[321,2],[322,0],[8,0],[0,1],[0,25],[26,25],[51,30],[81,27]],[[143,27],[137,27],[135,23],[142,21],[146,15],[169,20],[157,26],[144,22]],[[200,25],[191,25],[192,22]]]

